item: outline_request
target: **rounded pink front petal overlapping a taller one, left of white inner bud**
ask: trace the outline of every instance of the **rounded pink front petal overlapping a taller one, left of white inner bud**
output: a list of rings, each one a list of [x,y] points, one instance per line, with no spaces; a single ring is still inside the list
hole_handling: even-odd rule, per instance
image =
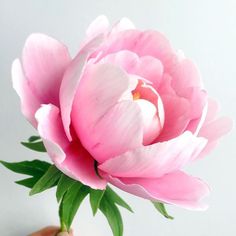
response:
[[[142,114],[132,101],[114,105],[97,123],[78,130],[85,123],[77,119],[75,129],[84,147],[100,163],[142,145]]]

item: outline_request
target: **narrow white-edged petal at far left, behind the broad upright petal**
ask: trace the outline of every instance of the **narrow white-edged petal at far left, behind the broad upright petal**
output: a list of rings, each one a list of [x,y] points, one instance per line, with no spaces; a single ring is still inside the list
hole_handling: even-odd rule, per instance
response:
[[[41,101],[32,92],[29,81],[26,80],[21,63],[18,59],[12,64],[12,83],[13,88],[20,97],[23,115],[36,128],[37,121],[34,114],[40,107]]]

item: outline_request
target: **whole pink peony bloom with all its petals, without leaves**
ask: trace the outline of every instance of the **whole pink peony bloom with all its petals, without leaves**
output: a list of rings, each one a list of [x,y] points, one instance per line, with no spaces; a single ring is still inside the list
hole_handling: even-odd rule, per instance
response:
[[[157,31],[98,17],[71,59],[33,34],[12,66],[22,112],[66,175],[95,189],[204,209],[208,186],[182,169],[231,128],[199,72]]]

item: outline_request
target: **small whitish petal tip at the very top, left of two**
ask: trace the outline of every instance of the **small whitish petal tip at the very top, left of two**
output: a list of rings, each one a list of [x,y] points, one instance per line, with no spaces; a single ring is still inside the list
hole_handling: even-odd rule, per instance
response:
[[[88,38],[94,38],[99,34],[106,33],[109,29],[109,21],[106,16],[98,16],[88,27],[86,35]]]

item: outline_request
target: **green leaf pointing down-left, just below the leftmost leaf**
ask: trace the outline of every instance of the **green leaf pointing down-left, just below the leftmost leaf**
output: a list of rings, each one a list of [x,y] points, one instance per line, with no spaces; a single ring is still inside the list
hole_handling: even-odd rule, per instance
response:
[[[54,187],[60,177],[61,172],[54,165],[52,165],[31,189],[30,196]]]

